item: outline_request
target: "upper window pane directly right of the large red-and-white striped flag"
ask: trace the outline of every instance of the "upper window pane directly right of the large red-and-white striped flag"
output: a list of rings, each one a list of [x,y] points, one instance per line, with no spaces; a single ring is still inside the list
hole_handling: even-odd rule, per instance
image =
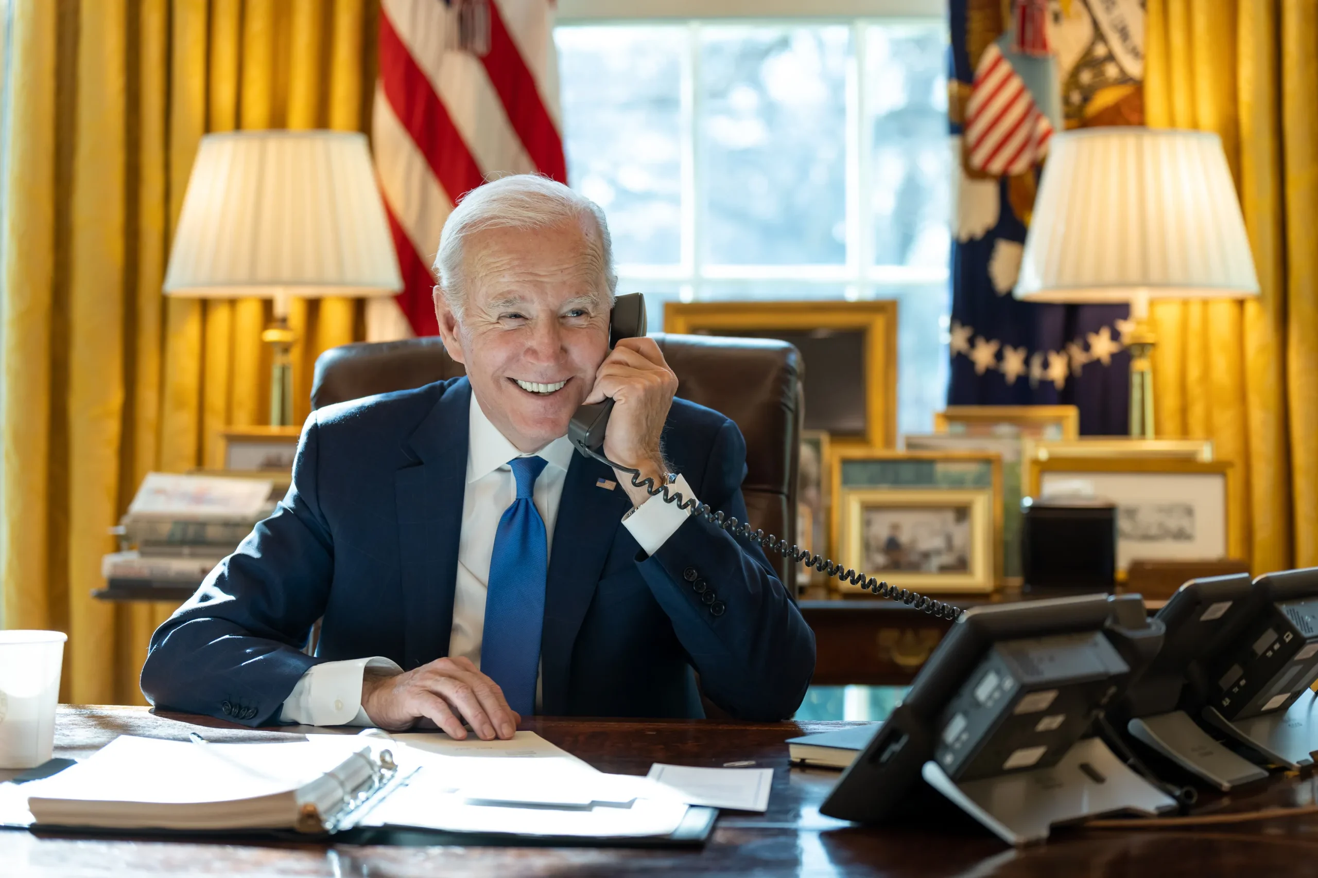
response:
[[[604,208],[619,263],[681,258],[684,28],[558,28],[568,180]]]

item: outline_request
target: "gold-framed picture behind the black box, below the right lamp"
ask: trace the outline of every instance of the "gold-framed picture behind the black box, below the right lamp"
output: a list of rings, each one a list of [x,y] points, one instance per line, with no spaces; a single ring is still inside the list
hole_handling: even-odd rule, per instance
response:
[[[1235,496],[1235,469],[1228,461],[1197,461],[1186,458],[1052,458],[1036,461],[1031,471],[1031,496],[1039,496],[1043,490],[1045,477],[1057,473],[1066,478],[1095,477],[1094,492],[1118,504],[1118,540],[1116,540],[1116,567],[1118,578],[1124,577],[1130,561],[1164,561],[1164,559],[1213,559],[1232,557],[1231,534],[1231,498]],[[1130,499],[1123,495],[1122,487],[1114,487],[1111,477],[1131,475],[1127,487],[1139,486],[1143,496]],[[1108,478],[1104,478],[1108,477]],[[1169,480],[1185,479],[1184,487],[1174,491],[1166,484]],[[1199,477],[1199,478],[1195,478]],[[1202,477],[1220,477],[1220,491],[1211,486],[1211,479]],[[1103,486],[1107,482],[1107,487]],[[1159,483],[1164,483],[1159,487]],[[1152,495],[1152,496],[1151,496]],[[1188,507],[1189,517],[1184,511],[1172,513],[1182,516],[1189,521],[1189,534],[1182,534],[1166,525],[1160,527],[1159,533],[1133,533],[1144,527],[1141,512],[1133,513],[1131,507],[1153,507],[1152,515],[1166,516],[1166,507]],[[1177,525],[1182,527],[1182,525]],[[1189,545],[1172,546],[1168,544],[1184,542]],[[1207,549],[1205,549],[1207,546]]]

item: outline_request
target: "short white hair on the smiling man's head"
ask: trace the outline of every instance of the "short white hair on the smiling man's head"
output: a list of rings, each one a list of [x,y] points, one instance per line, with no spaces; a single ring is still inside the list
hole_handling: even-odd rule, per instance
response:
[[[467,236],[485,229],[547,229],[564,222],[581,226],[600,261],[612,304],[618,275],[613,270],[609,224],[600,205],[547,176],[513,174],[464,195],[444,220],[432,270],[449,309],[461,320],[467,304],[467,278],[463,276]]]

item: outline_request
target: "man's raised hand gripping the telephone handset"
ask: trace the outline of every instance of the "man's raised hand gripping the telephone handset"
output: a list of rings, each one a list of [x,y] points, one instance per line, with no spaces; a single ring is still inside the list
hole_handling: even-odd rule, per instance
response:
[[[613,398],[613,415],[604,434],[604,455],[622,466],[641,470],[641,478],[663,483],[667,465],[659,450],[659,434],[668,420],[668,408],[677,392],[677,376],[664,362],[652,338],[621,338],[594,375],[594,387],[585,403]],[[631,477],[618,473],[633,505],[648,499]]]

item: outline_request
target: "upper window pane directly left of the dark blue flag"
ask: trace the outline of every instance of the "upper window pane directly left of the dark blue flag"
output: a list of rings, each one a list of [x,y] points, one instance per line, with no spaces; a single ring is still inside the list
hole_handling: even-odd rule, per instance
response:
[[[866,33],[875,265],[948,267],[946,43],[942,24],[871,25]]]

